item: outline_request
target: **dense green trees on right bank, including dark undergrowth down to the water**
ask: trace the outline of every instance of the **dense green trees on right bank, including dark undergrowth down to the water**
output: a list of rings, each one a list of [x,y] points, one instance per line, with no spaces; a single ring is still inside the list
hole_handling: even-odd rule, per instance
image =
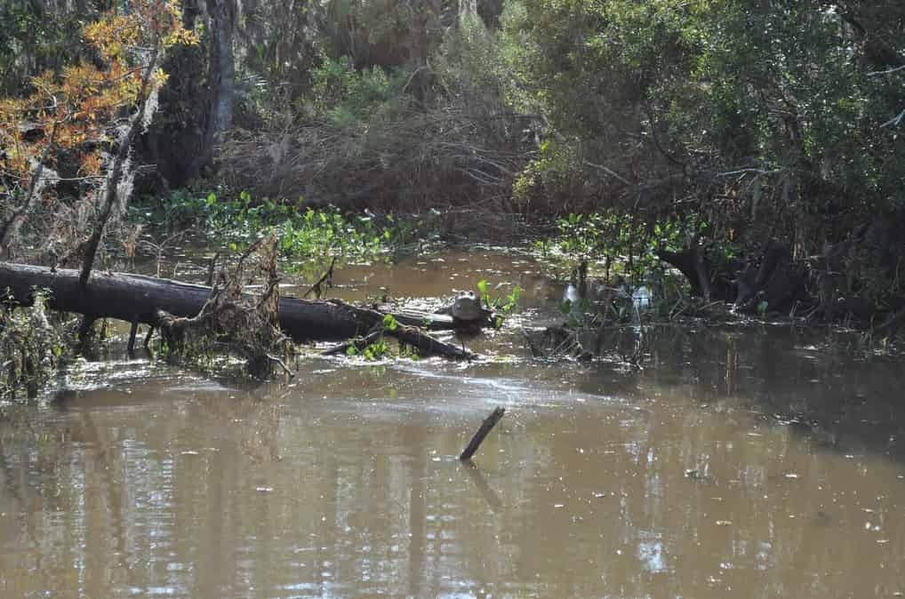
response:
[[[524,0],[502,22],[552,126],[517,196],[611,208],[654,240],[678,217],[724,262],[713,278],[727,243],[752,268],[782,243],[823,313],[902,306],[903,5]]]

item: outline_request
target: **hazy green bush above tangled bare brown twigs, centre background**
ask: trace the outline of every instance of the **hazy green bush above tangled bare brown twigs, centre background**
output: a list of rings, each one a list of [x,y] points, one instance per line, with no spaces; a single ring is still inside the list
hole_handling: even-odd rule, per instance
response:
[[[533,150],[532,120],[504,97],[513,80],[494,33],[463,20],[432,52],[424,63],[383,67],[324,55],[284,122],[226,141],[227,183],[344,208],[509,204]]]

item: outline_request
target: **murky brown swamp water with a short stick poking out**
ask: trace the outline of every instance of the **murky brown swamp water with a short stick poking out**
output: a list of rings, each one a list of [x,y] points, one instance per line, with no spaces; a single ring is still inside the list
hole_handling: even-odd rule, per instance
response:
[[[561,292],[529,260],[464,258],[338,283],[518,276],[526,319]],[[3,410],[0,596],[905,593],[902,361],[779,327],[667,331],[641,372],[473,343],[498,358],[312,358],[256,388],[114,345]]]

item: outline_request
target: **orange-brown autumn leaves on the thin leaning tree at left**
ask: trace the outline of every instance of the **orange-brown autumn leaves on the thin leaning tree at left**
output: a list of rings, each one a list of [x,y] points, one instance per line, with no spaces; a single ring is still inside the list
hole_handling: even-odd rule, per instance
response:
[[[149,62],[172,44],[198,43],[182,26],[176,0],[133,0],[129,14],[104,14],[82,33],[100,66],[44,72],[33,78],[30,97],[0,99],[0,195],[27,188],[37,163],[52,162],[60,150],[79,156],[79,176],[101,175],[99,147],[115,138],[115,120],[167,81],[157,61]]]

